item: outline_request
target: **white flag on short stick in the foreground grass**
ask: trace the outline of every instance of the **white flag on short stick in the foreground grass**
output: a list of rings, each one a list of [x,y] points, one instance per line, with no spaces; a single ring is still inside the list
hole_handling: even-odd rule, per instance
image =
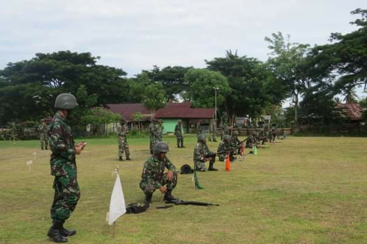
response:
[[[110,211],[108,215],[108,224],[112,225],[121,215],[126,213],[125,198],[122,192],[122,186],[120,181],[120,176],[117,174],[115,185],[113,186],[111,201],[110,201]]]

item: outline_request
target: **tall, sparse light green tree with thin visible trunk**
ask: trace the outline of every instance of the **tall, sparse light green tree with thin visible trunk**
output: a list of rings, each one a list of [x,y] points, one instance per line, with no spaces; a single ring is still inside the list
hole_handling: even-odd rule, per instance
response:
[[[307,75],[306,56],[310,52],[308,44],[291,43],[290,36],[284,40],[281,32],[273,33],[272,38],[265,37],[272,50],[268,59],[270,69],[278,79],[284,82],[288,96],[294,104],[294,121],[298,122],[299,95],[310,88],[311,79]]]

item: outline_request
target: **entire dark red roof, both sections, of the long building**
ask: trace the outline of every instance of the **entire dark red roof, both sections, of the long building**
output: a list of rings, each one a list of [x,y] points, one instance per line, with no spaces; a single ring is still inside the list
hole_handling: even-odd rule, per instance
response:
[[[141,112],[145,120],[150,119],[150,111],[142,103],[107,104],[111,112],[121,114],[131,121],[132,115]],[[191,103],[167,103],[166,107],[156,111],[156,118],[213,118],[214,108],[191,108]]]

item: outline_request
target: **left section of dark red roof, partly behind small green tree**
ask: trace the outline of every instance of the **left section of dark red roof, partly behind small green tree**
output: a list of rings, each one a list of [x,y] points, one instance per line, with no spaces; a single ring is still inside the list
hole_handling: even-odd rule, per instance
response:
[[[142,103],[107,104],[107,108],[111,112],[121,114],[128,121],[132,121],[132,116],[136,112],[141,112],[144,115],[144,120],[150,119],[150,111]]]

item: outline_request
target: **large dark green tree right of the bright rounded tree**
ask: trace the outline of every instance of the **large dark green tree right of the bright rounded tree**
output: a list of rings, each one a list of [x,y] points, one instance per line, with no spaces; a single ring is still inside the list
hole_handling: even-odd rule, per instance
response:
[[[229,114],[250,115],[257,118],[269,104],[280,105],[284,87],[264,63],[237,51],[227,51],[224,58],[205,60],[209,70],[219,71],[229,83],[231,92],[225,94],[222,110]]]

